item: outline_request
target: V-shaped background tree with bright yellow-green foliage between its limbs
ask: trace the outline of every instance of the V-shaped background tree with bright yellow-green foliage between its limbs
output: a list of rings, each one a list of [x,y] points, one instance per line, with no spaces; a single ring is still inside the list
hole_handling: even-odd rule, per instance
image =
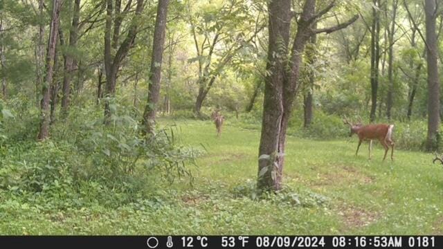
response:
[[[188,1],[188,21],[197,52],[193,60],[199,64],[199,92],[194,107],[197,115],[217,76],[263,27],[251,15],[247,1],[222,1],[221,7],[217,3],[207,4],[209,10],[194,17]]]

